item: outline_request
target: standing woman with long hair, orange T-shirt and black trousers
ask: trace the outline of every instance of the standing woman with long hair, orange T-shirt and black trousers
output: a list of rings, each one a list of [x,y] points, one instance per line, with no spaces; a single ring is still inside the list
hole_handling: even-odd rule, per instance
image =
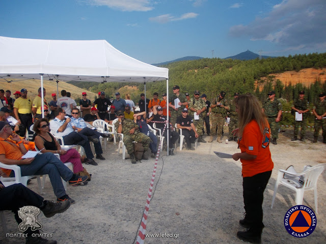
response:
[[[241,153],[232,155],[242,163],[243,202],[246,216],[240,220],[241,226],[249,228],[238,231],[238,238],[253,243],[261,242],[264,228],[262,203],[264,191],[274,167],[269,151],[270,128],[258,99],[251,94],[234,99],[238,112],[238,144]]]

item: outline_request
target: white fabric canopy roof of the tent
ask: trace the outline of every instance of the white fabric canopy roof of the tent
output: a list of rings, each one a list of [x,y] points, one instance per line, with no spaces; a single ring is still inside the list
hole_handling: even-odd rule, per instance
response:
[[[0,78],[148,82],[169,70],[134,59],[105,40],[65,41],[0,37]]]

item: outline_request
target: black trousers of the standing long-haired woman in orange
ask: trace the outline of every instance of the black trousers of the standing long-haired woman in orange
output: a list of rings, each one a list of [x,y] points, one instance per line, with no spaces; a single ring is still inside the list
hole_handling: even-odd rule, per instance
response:
[[[271,171],[256,174],[251,177],[243,177],[243,202],[246,217],[253,227],[263,226],[263,200],[264,191],[270,178]]]

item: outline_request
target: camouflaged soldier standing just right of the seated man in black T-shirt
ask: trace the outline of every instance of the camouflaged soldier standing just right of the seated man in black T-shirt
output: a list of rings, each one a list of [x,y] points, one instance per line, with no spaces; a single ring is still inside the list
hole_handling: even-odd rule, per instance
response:
[[[198,132],[198,142],[206,143],[203,139],[204,117],[206,116],[206,103],[199,97],[199,90],[195,90],[194,98],[188,102],[189,116],[194,119],[194,126]],[[194,114],[199,115],[199,119],[194,118]]]

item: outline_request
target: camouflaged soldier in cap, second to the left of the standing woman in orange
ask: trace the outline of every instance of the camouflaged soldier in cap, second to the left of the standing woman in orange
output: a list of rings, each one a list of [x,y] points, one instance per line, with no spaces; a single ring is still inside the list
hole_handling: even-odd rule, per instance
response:
[[[225,124],[225,117],[227,115],[227,110],[230,109],[228,101],[224,99],[225,95],[226,93],[223,92],[222,90],[219,97],[213,99],[210,105],[212,112],[210,115],[210,137],[208,142],[213,141],[213,136],[216,134],[216,126],[217,126],[218,137],[216,138],[216,141],[222,143],[221,137],[222,137],[223,126]]]

